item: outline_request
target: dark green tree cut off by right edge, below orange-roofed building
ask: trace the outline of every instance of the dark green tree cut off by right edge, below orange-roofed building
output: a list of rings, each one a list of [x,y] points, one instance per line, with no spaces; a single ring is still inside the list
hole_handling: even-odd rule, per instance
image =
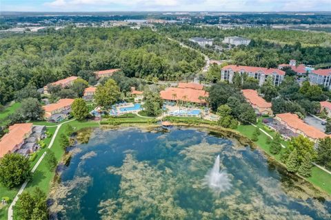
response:
[[[321,166],[331,169],[331,138],[325,137],[324,139],[320,139],[316,151],[316,162]]]

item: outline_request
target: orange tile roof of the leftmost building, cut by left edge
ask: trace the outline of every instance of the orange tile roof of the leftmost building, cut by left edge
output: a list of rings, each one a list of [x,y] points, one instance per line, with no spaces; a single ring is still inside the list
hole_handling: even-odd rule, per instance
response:
[[[27,133],[32,131],[32,123],[13,124],[9,126],[9,133],[0,140],[0,158],[12,151],[15,146],[24,141]]]

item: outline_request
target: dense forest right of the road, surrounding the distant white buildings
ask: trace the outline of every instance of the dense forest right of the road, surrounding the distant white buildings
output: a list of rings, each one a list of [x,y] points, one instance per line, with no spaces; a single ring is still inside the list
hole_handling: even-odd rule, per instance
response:
[[[272,30],[269,28],[244,28],[220,30],[217,27],[194,27],[192,25],[168,25],[159,28],[162,34],[183,41],[214,59],[228,59],[238,65],[277,67],[295,59],[299,63],[317,65],[331,62],[331,34],[301,32],[295,30]],[[212,47],[201,48],[188,41],[193,36],[214,39],[215,45],[223,45],[224,36],[245,36],[252,39],[248,47],[217,52]]]

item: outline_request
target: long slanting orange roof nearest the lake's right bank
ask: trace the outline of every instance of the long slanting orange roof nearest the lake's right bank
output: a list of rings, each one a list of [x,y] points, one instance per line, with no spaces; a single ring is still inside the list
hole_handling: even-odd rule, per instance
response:
[[[314,126],[305,124],[305,122],[303,122],[303,120],[301,120],[296,114],[281,113],[277,114],[276,116],[281,118],[281,120],[288,124],[288,126],[292,127],[293,129],[300,130],[307,137],[311,137],[312,139],[324,138],[328,136],[322,131],[319,131],[319,129],[316,129]]]

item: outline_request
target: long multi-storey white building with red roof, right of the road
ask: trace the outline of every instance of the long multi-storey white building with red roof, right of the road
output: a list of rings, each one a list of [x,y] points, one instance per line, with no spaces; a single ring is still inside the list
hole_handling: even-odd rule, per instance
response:
[[[248,66],[239,66],[239,65],[228,65],[221,69],[221,80],[228,81],[232,83],[232,78],[234,73],[238,72],[239,74],[248,74],[248,76],[256,78],[259,80],[259,85],[263,85],[267,77],[272,77],[272,81],[275,86],[281,84],[285,76],[285,72],[280,69],[274,68],[265,68],[265,67],[248,67]]]

